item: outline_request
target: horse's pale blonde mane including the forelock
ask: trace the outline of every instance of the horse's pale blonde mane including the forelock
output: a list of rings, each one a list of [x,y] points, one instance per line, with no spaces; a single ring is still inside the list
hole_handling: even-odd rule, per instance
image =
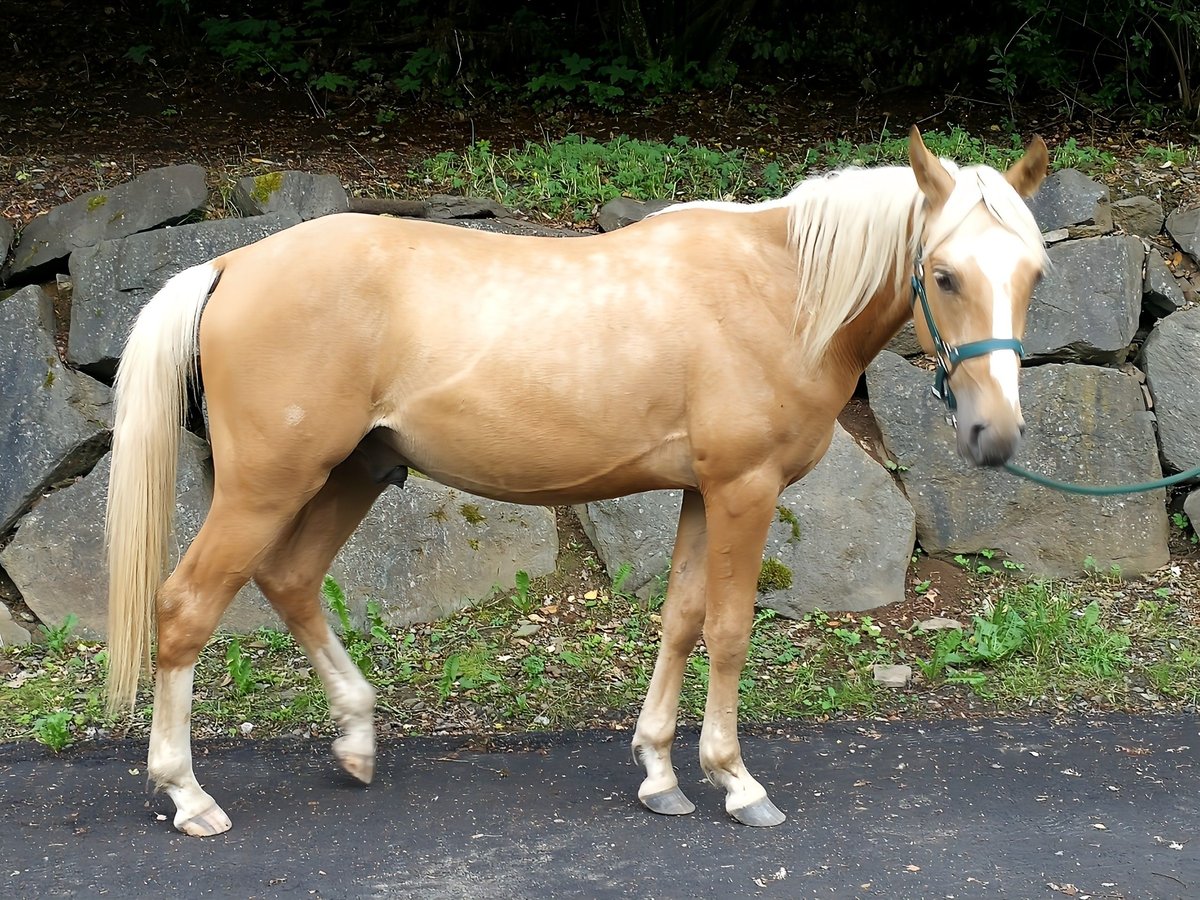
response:
[[[654,215],[696,208],[756,212],[786,206],[787,241],[800,263],[793,328],[803,358],[816,366],[838,330],[859,316],[882,288],[896,293],[908,289],[922,236],[928,253],[979,203],[1044,262],[1042,232],[1002,174],[986,166],[960,169],[949,160],[941,162],[955,185],[931,222],[926,222],[924,196],[907,166],[848,168],[802,181],[773,200],[696,200]]]

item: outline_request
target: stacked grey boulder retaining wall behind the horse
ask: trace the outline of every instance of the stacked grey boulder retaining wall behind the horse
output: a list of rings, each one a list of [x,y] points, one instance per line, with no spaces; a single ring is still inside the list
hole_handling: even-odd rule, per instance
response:
[[[0,221],[6,286],[19,288],[0,300],[0,598],[24,600],[44,622],[73,613],[88,634],[103,629],[107,385],[133,316],[175,271],[356,203],[326,176],[278,173],[239,188],[246,217],[178,224],[206,202],[197,184],[203,173],[192,166],[148,172],[35,220],[11,251],[11,223]],[[1152,479],[1160,461],[1169,472],[1200,463],[1200,451],[1188,450],[1200,397],[1198,311],[1163,264],[1159,250],[1170,238],[1160,230],[1162,209],[1147,198],[1110,204],[1105,187],[1070,170],[1050,176],[1031,205],[1054,268],[1026,335],[1030,431],[1018,461],[1085,482]],[[442,198],[402,206],[389,211],[547,232],[490,203]],[[637,216],[637,204],[623,202],[619,215],[602,221],[616,227]],[[1194,214],[1172,214],[1166,230],[1196,252]],[[59,288],[74,287],[66,320],[68,293],[56,290],[55,276]],[[893,347],[917,354],[911,341]],[[869,401],[883,446],[839,430],[817,469],[780,498],[762,604],[797,616],[814,606],[863,610],[899,600],[914,539],[940,554],[996,550],[1031,575],[1076,572],[1085,558],[1126,574],[1166,562],[1164,492],[1116,500],[1063,496],[968,469],[953,454],[929,383],[928,371],[895,354],[871,367]],[[875,457],[886,452],[894,469],[863,446]],[[188,436],[176,498],[179,546],[206,508],[205,456],[204,443]],[[668,565],[678,496],[605,500],[576,514],[610,572],[629,565],[628,588],[654,589]],[[334,574],[359,608],[376,598],[391,620],[407,623],[509,586],[517,570],[548,574],[556,554],[550,510],[409,479],[384,494]],[[224,626],[268,623],[274,613],[247,589]],[[23,640],[28,628],[0,608],[0,641]]]

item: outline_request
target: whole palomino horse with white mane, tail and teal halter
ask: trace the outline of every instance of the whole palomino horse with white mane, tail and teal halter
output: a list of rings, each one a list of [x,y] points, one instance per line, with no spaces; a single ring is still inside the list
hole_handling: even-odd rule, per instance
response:
[[[781,822],[737,732],[767,529],[868,362],[912,317],[914,270],[946,344],[976,346],[948,366],[959,451],[1002,463],[1024,427],[1014,338],[1045,257],[1021,197],[1045,175],[1045,145],[1036,138],[1001,175],[938,161],[913,128],[910,161],[768,203],[686,203],[588,238],[329,216],[167,282],[116,379],[108,688],[113,709],[133,704],[157,620],[148,769],[175,827],[229,828],[192,770],[192,677],[250,578],[323,682],[334,756],[371,780],[374,691],[318,598],[338,548],[408,467],[517,503],[682,488],[662,646],[634,734],[638,798],[655,812],[694,809],[671,743],[703,635],[701,767],[736,820]],[[926,319],[916,325],[931,350]],[[180,422],[200,380],[212,506],[160,587]]]

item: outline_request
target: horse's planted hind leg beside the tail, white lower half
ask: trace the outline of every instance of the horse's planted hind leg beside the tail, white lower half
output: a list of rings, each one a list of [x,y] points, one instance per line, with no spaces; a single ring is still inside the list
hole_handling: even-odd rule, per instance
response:
[[[318,478],[313,492],[319,484]],[[158,653],[146,769],[155,786],[175,804],[175,828],[187,834],[203,836],[229,828],[229,817],[200,787],[192,770],[196,659],[264,548],[307,496],[311,492],[259,497],[252,505],[223,492],[218,476],[200,533],[158,589]]]

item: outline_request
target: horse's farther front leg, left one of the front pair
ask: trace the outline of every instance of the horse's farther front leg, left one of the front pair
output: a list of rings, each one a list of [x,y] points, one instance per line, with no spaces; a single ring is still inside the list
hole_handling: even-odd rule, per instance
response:
[[[662,608],[662,642],[634,731],[634,761],[646,768],[637,798],[653,812],[679,816],[696,809],[679,790],[679,779],[671,763],[671,744],[684,668],[703,624],[704,506],[698,493],[685,491]]]

